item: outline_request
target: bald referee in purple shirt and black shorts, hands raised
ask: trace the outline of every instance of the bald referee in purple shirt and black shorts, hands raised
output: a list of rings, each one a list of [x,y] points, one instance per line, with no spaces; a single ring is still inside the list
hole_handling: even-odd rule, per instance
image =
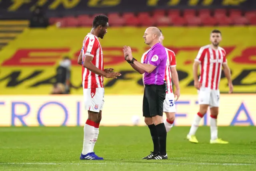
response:
[[[168,159],[166,153],[166,129],[162,122],[163,102],[166,96],[167,86],[164,82],[167,55],[159,37],[161,33],[156,27],[146,29],[143,38],[150,46],[150,51],[144,63],[138,62],[132,57],[130,47],[124,46],[124,57],[132,68],[144,75],[143,116],[148,125],[154,144],[154,150],[143,159]]]

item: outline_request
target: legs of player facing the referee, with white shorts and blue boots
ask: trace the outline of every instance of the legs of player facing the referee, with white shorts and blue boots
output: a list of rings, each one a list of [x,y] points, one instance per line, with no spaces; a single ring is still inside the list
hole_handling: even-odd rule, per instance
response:
[[[103,159],[102,157],[96,156],[92,151],[94,138],[96,137],[95,127],[98,127],[99,125],[99,112],[102,106],[102,99],[104,94],[104,90],[102,89],[103,88],[84,89],[84,104],[86,106],[86,110],[88,110],[88,119],[84,125],[84,143],[80,159]]]

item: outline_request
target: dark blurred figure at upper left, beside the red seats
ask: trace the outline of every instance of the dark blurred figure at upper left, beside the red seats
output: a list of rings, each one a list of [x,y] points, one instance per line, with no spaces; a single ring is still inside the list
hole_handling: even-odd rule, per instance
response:
[[[32,12],[30,28],[46,28],[49,25],[48,18],[44,16],[42,7],[37,6]]]

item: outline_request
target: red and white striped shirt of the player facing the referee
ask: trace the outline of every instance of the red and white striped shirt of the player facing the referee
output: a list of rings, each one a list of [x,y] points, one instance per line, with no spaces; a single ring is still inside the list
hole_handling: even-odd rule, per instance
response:
[[[82,63],[84,63],[85,56],[88,55],[93,57],[93,65],[102,71],[104,70],[102,48],[98,37],[91,33],[84,37],[82,54]],[[82,85],[83,88],[103,87],[103,77],[82,67]]]

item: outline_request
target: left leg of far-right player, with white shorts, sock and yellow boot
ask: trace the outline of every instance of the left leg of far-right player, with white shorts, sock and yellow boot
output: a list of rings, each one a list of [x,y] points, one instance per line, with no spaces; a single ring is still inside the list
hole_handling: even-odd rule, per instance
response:
[[[187,135],[187,139],[192,143],[198,143],[196,139],[196,131],[199,127],[201,119],[204,117],[208,110],[208,106],[210,103],[210,90],[207,88],[201,88],[198,93],[199,97],[199,112],[195,115],[192,125],[190,127],[190,131]]]

